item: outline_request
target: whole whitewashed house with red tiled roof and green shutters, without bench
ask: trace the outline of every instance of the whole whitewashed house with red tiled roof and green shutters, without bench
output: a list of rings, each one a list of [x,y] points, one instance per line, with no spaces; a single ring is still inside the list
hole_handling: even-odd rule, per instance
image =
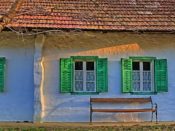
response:
[[[1,2],[0,121],[88,122],[90,97],[148,96],[159,121],[175,121],[174,5]],[[94,115],[94,121],[149,119],[150,113]]]

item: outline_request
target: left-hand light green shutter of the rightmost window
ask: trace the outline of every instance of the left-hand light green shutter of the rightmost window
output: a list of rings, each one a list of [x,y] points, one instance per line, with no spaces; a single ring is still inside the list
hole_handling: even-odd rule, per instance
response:
[[[132,59],[123,59],[122,62],[122,92],[131,92],[132,89]]]

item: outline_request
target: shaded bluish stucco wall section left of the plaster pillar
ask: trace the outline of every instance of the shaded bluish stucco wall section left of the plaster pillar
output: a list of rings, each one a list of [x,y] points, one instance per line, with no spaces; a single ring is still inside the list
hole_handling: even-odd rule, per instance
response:
[[[6,58],[5,88],[0,93],[0,121],[33,121],[33,51],[31,40],[1,33],[0,57]]]

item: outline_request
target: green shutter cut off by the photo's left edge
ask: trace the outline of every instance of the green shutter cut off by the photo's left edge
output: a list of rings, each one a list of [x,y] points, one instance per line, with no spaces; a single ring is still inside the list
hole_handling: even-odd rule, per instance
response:
[[[5,58],[0,58],[0,92],[4,91]]]

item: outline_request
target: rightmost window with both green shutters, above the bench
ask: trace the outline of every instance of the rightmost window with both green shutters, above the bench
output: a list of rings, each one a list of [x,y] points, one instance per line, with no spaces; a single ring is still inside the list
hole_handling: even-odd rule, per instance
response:
[[[167,60],[156,57],[121,59],[122,92],[148,94],[167,92]]]

